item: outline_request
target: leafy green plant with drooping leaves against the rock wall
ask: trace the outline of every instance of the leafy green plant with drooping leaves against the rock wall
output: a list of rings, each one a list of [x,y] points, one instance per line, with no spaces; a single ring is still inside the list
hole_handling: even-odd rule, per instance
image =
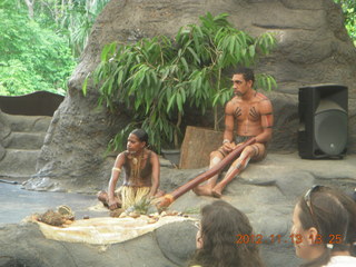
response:
[[[202,113],[211,108],[217,111],[233,95],[230,77],[224,76],[224,70],[251,66],[275,47],[271,33],[253,38],[233,28],[227,17],[207,13],[200,17],[201,26],[182,27],[172,41],[158,36],[134,44],[105,46],[92,73],[93,86],[100,90],[99,103],[111,111],[125,105],[134,113],[132,122],[112,140],[115,148],[137,126],[148,131],[157,150],[162,144],[178,146],[185,107],[197,107]],[[276,87],[271,76],[260,75],[258,82],[267,90]]]

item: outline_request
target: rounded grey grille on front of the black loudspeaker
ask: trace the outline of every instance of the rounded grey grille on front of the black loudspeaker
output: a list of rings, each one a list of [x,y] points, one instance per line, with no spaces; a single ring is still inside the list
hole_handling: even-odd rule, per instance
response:
[[[329,156],[343,152],[347,144],[347,113],[327,110],[315,116],[315,141]]]

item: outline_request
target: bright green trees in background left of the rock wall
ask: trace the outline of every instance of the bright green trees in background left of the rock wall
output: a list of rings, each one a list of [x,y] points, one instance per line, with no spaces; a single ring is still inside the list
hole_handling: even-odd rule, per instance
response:
[[[108,1],[1,0],[0,95],[65,95],[91,26]]]

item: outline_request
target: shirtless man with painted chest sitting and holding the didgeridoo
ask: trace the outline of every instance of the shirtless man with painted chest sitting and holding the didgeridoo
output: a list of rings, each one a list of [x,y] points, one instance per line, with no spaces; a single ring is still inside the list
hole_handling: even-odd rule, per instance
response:
[[[210,168],[249,138],[255,137],[256,142],[243,150],[221,181],[217,184],[216,175],[204,185],[194,188],[198,196],[221,197],[227,184],[246,168],[249,160],[258,161],[266,156],[267,142],[273,134],[273,106],[266,96],[253,89],[254,82],[254,71],[248,68],[239,68],[233,76],[234,97],[225,107],[224,141],[218,150],[210,154]]]

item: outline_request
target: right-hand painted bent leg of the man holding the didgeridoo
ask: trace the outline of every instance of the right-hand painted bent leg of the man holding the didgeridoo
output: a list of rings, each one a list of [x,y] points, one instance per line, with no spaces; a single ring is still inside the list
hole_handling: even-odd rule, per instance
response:
[[[255,144],[246,147],[240,157],[238,157],[238,159],[233,162],[224,179],[212,188],[212,196],[220,198],[222,196],[222,190],[225,189],[225,187],[247,167],[249,160],[251,158],[257,160],[259,158],[263,158],[264,155],[265,146],[263,144]]]

